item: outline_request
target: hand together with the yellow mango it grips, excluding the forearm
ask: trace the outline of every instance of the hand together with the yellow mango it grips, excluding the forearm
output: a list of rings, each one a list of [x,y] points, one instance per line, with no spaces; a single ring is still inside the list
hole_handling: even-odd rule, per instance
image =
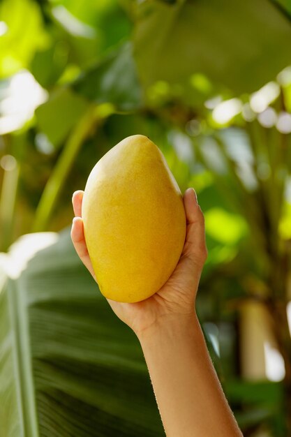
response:
[[[110,149],[73,207],[75,249],[135,332],[165,314],[195,311],[207,257],[204,218],[193,188],[182,197],[153,142],[133,135]]]

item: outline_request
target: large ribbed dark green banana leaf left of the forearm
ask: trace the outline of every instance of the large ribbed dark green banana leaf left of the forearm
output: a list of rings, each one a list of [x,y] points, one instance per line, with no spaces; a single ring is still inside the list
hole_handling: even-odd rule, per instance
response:
[[[68,232],[22,237],[0,264],[0,437],[165,435],[140,344]]]

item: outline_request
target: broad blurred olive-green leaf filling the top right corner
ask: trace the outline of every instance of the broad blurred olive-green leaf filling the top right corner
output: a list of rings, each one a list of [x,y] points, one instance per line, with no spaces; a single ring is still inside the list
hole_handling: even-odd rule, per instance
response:
[[[137,7],[135,59],[145,87],[169,82],[186,101],[208,80],[241,94],[290,64],[290,38],[289,20],[268,0],[146,0]]]

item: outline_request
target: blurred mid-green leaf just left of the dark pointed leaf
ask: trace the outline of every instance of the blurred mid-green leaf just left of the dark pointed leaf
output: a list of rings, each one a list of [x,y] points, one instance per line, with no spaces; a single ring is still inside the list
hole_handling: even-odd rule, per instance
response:
[[[36,109],[38,128],[58,147],[87,108],[89,103],[82,96],[69,88],[61,88]]]

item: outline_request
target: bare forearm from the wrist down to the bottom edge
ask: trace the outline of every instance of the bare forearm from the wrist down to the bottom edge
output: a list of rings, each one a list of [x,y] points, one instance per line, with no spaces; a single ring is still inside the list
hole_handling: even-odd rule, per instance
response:
[[[194,313],[138,338],[167,437],[241,437]]]

